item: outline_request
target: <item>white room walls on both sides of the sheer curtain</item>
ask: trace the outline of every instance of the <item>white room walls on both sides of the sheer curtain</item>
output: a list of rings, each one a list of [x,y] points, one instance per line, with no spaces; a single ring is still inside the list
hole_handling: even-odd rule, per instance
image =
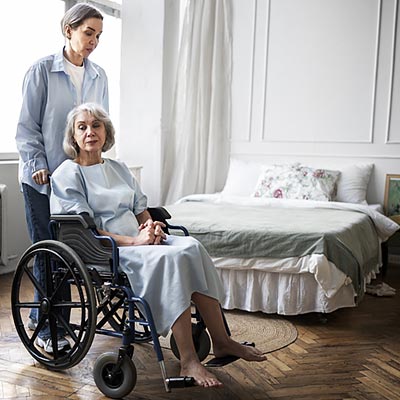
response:
[[[385,174],[400,173],[399,0],[232,2],[232,156],[374,162],[368,200],[382,203]],[[154,200],[176,56],[171,3],[125,0],[122,13],[119,154],[143,165]]]

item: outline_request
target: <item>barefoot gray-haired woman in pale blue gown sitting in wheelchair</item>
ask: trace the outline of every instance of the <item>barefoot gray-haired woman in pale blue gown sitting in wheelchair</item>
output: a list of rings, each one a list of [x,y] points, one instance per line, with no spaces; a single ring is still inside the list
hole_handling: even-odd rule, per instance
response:
[[[172,329],[181,375],[200,386],[221,386],[197,357],[191,301],[206,323],[216,357],[266,357],[228,336],[219,303],[223,289],[210,256],[196,239],[165,235],[163,223],[151,219],[147,198],[126,165],[102,157],[113,144],[114,127],[100,106],[82,104],[71,111],[64,139],[71,160],[52,175],[51,212],[87,213],[101,235],[114,238],[120,266],[135,295],[149,303],[157,333],[166,336]]]

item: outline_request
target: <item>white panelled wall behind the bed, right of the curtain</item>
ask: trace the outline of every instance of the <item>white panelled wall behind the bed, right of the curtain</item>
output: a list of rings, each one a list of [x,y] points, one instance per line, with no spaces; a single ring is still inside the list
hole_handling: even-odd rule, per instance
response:
[[[372,161],[368,200],[382,203],[400,173],[398,0],[233,2],[231,154]]]

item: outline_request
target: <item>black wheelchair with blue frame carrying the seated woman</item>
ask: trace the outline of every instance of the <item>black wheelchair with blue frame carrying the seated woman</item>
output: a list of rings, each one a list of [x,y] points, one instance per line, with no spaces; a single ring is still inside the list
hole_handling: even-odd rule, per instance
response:
[[[171,216],[164,208],[149,208],[148,211],[154,220],[166,224],[166,233],[178,229],[181,235],[189,234],[185,227],[167,222]],[[97,358],[93,377],[105,396],[122,398],[137,382],[132,360],[134,344],[152,343],[165,390],[193,386],[191,377],[167,375],[150,307],[143,298],[135,296],[128,278],[119,270],[115,241],[99,235],[88,215],[52,215],[50,230],[51,240],[34,243],[22,255],[12,284],[15,328],[30,355],[50,370],[64,370],[85,357],[95,334],[120,338],[122,344],[118,351],[106,352]],[[42,283],[33,272],[36,257],[42,257],[45,266]],[[36,327],[26,325],[31,309],[40,311]],[[193,341],[199,360],[203,361],[209,355],[211,341],[204,321],[197,310],[193,310]],[[230,335],[225,317],[224,323]],[[44,327],[50,331],[52,354],[37,345],[38,333]],[[71,344],[68,350],[58,349],[60,327]],[[173,335],[170,345],[179,359]],[[234,359],[219,360],[222,364],[214,359],[217,361],[214,366]]]

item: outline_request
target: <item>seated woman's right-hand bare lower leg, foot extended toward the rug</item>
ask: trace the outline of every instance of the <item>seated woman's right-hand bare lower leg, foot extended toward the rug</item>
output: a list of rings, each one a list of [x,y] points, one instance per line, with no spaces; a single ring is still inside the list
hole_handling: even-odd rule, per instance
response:
[[[264,361],[267,359],[257,348],[243,346],[228,336],[222,319],[221,308],[216,299],[201,293],[193,293],[192,300],[210,332],[216,357],[232,355],[246,361]]]

